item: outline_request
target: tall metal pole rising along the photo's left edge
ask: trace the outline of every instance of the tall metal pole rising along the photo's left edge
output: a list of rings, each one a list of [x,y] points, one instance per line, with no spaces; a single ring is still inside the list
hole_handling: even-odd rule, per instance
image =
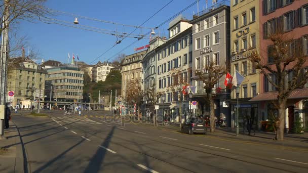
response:
[[[3,30],[2,30],[2,41],[1,41],[1,72],[0,72],[0,105],[6,104],[6,91],[7,91],[7,59],[8,59],[8,35],[9,35],[9,1],[4,1],[4,16],[3,16]],[[0,119],[0,138],[4,136],[4,119]]]

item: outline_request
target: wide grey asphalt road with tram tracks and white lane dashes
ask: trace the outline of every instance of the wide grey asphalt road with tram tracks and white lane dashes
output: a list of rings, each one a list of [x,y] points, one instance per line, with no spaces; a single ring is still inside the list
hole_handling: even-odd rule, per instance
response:
[[[308,172],[308,147],[181,134],[95,116],[49,116],[13,117],[26,172]]]

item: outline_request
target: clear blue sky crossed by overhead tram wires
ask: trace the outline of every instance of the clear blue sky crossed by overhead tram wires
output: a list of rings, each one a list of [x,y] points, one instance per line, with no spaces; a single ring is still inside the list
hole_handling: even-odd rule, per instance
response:
[[[160,10],[170,0],[118,0],[118,1],[101,1],[101,0],[49,0],[46,6],[50,9],[59,10],[63,12],[78,14],[80,16],[101,19],[105,21],[112,21],[123,23],[127,25],[140,25],[151,15]],[[180,12],[182,9],[189,6],[195,0],[174,0],[165,9],[158,13],[155,17],[146,22],[144,27],[156,27],[171,16]],[[206,7],[205,0],[199,2],[200,11]],[[212,1],[208,4],[211,6]],[[197,13],[197,4],[183,13],[187,19],[193,17],[193,13]],[[64,14],[58,14],[52,18],[73,22],[74,17]],[[120,25],[107,24],[103,22],[96,22],[86,19],[79,19],[80,25],[88,25],[91,27],[117,30],[119,32],[131,32],[135,28],[123,27]],[[156,30],[156,33],[168,36],[168,23]],[[134,33],[147,33],[149,29],[137,29]],[[21,22],[20,35],[27,35],[28,42],[32,48],[35,48],[44,60],[57,60],[62,63],[67,62],[67,54],[74,53],[75,57],[78,54],[80,61],[91,63],[94,59],[109,49],[117,37],[106,35],[102,33],[86,31],[57,24],[46,24],[43,22],[29,23]],[[115,54],[119,53],[123,48],[130,45],[136,38],[125,38],[123,42],[102,57],[98,58],[92,64],[97,63],[98,60],[105,61]],[[148,44],[148,36],[122,53],[129,55],[134,53],[133,49]],[[25,48],[27,52],[27,47]],[[39,60],[38,62],[40,62]],[[112,61],[112,59],[111,59]]]

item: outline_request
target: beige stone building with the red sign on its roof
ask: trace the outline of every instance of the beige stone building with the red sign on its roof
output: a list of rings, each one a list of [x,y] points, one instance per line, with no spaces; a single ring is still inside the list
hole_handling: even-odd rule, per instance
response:
[[[139,80],[142,84],[142,60],[147,50],[126,56],[122,60],[122,98],[126,99],[126,86],[130,80]]]

